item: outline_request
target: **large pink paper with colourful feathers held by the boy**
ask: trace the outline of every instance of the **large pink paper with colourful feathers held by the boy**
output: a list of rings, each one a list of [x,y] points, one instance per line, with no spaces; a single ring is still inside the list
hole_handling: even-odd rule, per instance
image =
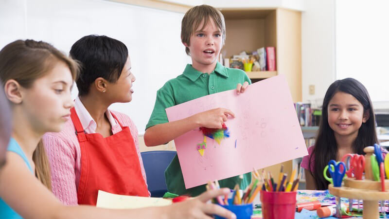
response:
[[[230,90],[203,96],[166,113],[172,122],[219,107],[235,113],[226,122],[230,138],[218,145],[207,137],[204,156],[196,148],[204,140],[198,128],[174,140],[187,189],[308,155],[285,76],[249,85],[239,95]]]

